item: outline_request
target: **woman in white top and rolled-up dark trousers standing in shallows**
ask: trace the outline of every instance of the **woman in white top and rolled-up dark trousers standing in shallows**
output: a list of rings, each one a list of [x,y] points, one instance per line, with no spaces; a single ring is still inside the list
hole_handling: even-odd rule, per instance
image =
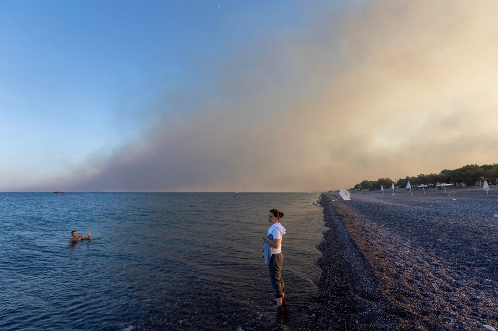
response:
[[[272,248],[272,255],[268,263],[270,272],[271,286],[275,290],[275,299],[277,307],[282,306],[285,297],[285,285],[282,278],[282,236],[285,234],[285,228],[280,224],[283,213],[277,209],[272,209],[268,213],[268,223],[271,224],[266,236],[263,236],[265,243]]]

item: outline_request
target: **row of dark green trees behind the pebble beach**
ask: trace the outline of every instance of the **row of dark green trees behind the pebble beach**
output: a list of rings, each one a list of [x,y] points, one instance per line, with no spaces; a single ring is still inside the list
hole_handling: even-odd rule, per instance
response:
[[[394,183],[394,186],[406,186],[408,181],[412,186],[421,184],[434,186],[438,183],[471,186],[480,184],[480,181],[482,180],[488,180],[490,185],[498,184],[498,164],[465,165],[458,169],[444,169],[439,173],[431,174],[421,173],[418,176],[406,176],[405,178],[399,178],[398,180],[392,180],[389,177],[379,178],[377,180],[364,180],[361,183],[356,184],[354,189],[378,190],[380,189],[380,185],[384,188],[390,188],[392,183]]]

